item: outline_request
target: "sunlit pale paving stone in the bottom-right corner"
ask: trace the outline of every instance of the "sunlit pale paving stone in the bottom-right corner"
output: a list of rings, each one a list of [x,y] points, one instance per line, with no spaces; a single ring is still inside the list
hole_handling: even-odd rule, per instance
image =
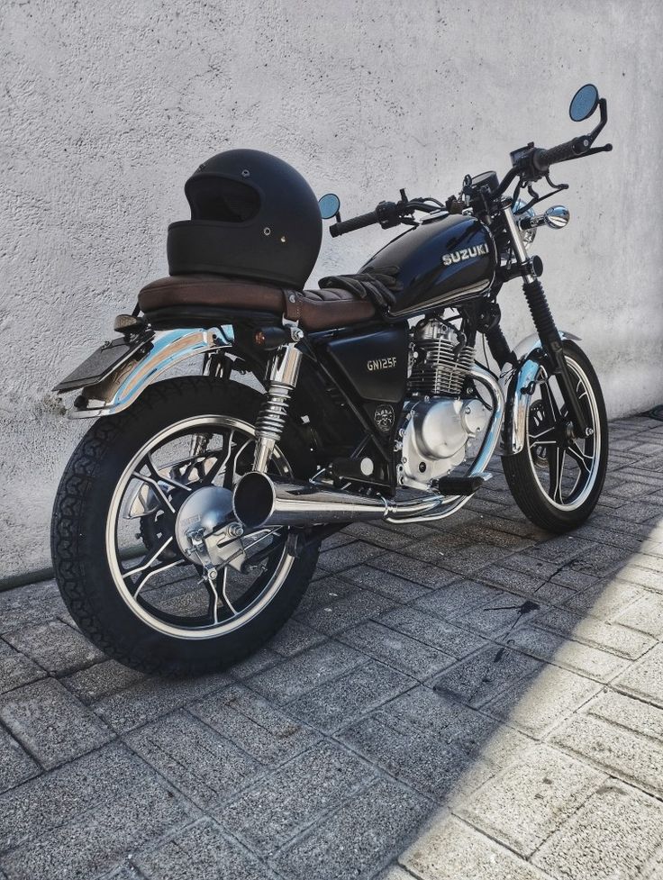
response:
[[[661,845],[663,804],[624,785],[602,786],[532,861],[555,877],[638,877]]]

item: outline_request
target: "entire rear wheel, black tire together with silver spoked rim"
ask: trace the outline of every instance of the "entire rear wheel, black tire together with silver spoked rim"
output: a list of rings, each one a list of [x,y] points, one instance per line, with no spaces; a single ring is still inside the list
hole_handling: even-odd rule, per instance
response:
[[[223,594],[219,585],[212,598],[197,559],[186,556],[181,534],[179,543],[174,537],[178,508],[192,492],[213,486],[228,502],[250,469],[260,401],[247,386],[211,377],[160,382],[131,409],[95,422],[69,460],[51,525],[56,579],[81,631],[125,666],[161,676],[228,667],[270,639],[304,594],[316,543],[295,552],[286,531],[272,530],[253,536],[266,549],[261,556],[260,547],[247,549],[251,534],[241,544],[227,539],[227,558],[239,550],[244,564],[225,565]],[[211,451],[189,454],[198,449]],[[288,426],[275,472],[309,476],[310,459]],[[226,592],[229,572],[234,592]]]

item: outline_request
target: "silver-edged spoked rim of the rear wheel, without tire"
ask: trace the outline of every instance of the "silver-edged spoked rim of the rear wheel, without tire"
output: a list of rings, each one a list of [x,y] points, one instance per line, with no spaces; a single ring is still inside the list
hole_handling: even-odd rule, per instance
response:
[[[207,415],[169,425],[126,466],[110,504],[106,555],[123,600],[152,629],[180,639],[215,638],[261,612],[286,578],[294,561],[286,552],[286,529],[225,540],[228,552],[214,582],[204,576],[199,559],[187,555],[190,548],[177,540],[177,514],[187,497],[215,486],[227,490],[230,506],[232,487],[250,470],[254,448],[255,431],[248,422]],[[272,462],[275,474],[289,472],[279,449]],[[147,511],[142,516],[141,507]],[[126,560],[123,550],[132,529],[127,522],[137,516],[145,554]],[[253,564],[258,551],[259,563]],[[186,581],[184,597],[164,589],[174,578],[167,582],[163,576],[174,568],[177,581]]]

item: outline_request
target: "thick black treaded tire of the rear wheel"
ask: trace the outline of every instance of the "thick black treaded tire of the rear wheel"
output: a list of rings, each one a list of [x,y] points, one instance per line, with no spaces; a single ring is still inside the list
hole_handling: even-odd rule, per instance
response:
[[[260,603],[253,617],[247,613],[247,622],[238,629],[187,639],[155,629],[132,611],[109,561],[109,510],[118,481],[131,467],[137,451],[168,426],[209,414],[223,413],[224,417],[252,426],[260,401],[261,395],[247,386],[210,377],[160,382],[146,389],[131,409],[95,422],[70,458],[59,484],[51,525],[56,580],[81,631],[125,666],[159,676],[196,676],[228,667],[268,641],[292,615],[304,594],[317,564],[319,544],[309,545],[294,558],[276,593],[264,607]],[[292,462],[295,476],[310,475],[310,450],[292,426],[286,428],[278,449],[286,462]],[[284,542],[284,555],[278,564],[284,558],[289,562],[288,546]],[[171,555],[164,553],[157,562],[171,562],[173,547],[177,547],[175,542],[168,548]],[[150,555],[150,549],[147,552]],[[195,569],[179,551],[176,558],[180,560],[177,565],[195,575]],[[266,582],[268,574],[264,576]],[[261,573],[257,583],[262,577]]]

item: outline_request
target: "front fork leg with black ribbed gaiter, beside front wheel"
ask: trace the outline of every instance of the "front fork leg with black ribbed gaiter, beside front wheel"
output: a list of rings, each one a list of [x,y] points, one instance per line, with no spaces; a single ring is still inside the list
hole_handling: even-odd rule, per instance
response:
[[[564,358],[564,346],[559,336],[557,325],[550,313],[550,307],[543,291],[543,286],[539,278],[536,277],[534,268],[531,265],[531,259],[527,256],[527,251],[522,243],[521,231],[513,217],[510,199],[504,200],[502,203],[502,214],[504,225],[509,231],[512,241],[516,262],[521,270],[522,290],[530,307],[531,317],[534,327],[539,334],[541,346],[549,358],[552,371],[558,377],[559,390],[561,391],[564,403],[567,404],[567,412],[573,424],[575,435],[579,438],[585,438],[592,432],[592,429],[587,424],[585,413],[583,413],[577,398],[576,388],[568,372],[567,361]]]

